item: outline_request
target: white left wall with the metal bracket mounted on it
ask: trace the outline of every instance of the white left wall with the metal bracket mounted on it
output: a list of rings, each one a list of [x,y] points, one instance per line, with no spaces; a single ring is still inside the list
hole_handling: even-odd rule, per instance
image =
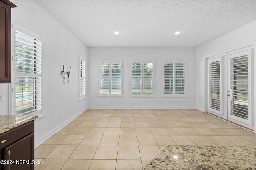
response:
[[[88,59],[88,48],[33,0],[12,0],[12,20],[43,35],[43,113],[35,121],[35,146],[60,130],[88,108],[87,98],[78,102],[78,55]],[[69,84],[60,72],[71,66]],[[8,115],[8,84],[0,84],[5,100],[0,115]],[[62,114],[62,119],[60,119]]]

